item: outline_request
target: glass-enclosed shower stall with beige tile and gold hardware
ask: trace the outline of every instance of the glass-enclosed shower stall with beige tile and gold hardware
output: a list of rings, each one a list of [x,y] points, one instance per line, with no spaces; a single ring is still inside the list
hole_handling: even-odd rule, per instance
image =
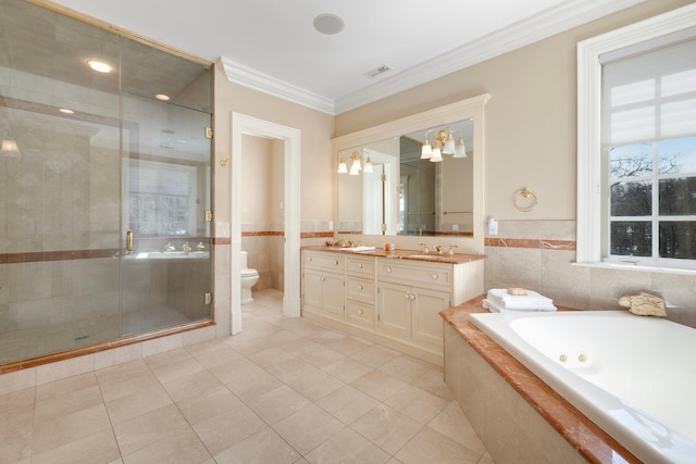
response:
[[[210,63],[0,11],[0,367],[212,319]]]

